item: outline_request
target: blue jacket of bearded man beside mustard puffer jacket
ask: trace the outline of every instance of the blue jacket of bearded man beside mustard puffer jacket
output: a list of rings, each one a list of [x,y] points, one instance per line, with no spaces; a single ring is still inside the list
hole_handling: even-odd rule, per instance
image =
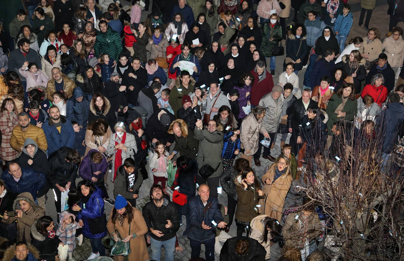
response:
[[[49,155],[63,146],[73,146],[75,135],[72,122],[63,115],[60,115],[60,120],[62,122],[60,132],[54,126],[53,120],[50,117],[42,125],[46,141],[48,142]]]

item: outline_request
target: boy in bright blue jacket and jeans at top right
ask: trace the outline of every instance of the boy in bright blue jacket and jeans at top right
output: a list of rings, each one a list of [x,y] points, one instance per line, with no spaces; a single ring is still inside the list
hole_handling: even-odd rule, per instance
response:
[[[345,49],[345,41],[347,40],[347,36],[349,35],[349,31],[351,31],[353,15],[349,13],[351,6],[349,4],[345,4],[342,9],[342,14],[337,17],[337,21],[334,24],[334,32],[335,38],[337,38],[339,44],[339,53]]]

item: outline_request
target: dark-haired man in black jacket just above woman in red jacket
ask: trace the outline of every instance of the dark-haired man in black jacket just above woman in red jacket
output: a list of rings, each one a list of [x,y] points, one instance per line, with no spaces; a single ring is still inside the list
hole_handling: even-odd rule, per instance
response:
[[[393,90],[395,73],[387,62],[387,55],[384,52],[379,54],[379,60],[377,61],[377,63],[373,64],[372,67],[370,67],[370,71],[366,76],[366,84],[370,84],[370,82],[372,81],[372,77],[378,73],[384,76],[384,86],[386,86],[387,91],[390,92],[391,90]],[[404,79],[404,70],[402,70],[402,72],[400,73],[400,77]]]

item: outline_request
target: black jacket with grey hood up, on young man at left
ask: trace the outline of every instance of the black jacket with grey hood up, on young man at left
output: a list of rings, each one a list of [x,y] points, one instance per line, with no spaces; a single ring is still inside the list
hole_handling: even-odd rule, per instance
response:
[[[29,144],[35,145],[34,157],[29,156],[27,149],[25,148],[25,146]],[[29,160],[32,160],[31,165],[28,164]],[[42,188],[38,189],[38,197],[43,196],[49,190],[49,182],[46,179],[46,176],[49,172],[49,167],[48,164],[44,164],[44,162],[47,161],[48,159],[46,158],[45,152],[43,152],[42,150],[38,150],[38,145],[36,144],[36,142],[31,138],[26,138],[23,146],[23,153],[21,153],[20,157],[18,157],[17,163],[20,165],[21,168],[32,169],[36,172],[44,173],[45,182]]]

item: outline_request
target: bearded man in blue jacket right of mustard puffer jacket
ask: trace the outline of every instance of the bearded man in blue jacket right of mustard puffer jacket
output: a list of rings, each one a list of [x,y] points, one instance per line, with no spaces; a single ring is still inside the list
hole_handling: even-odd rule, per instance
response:
[[[66,146],[72,147],[74,142],[74,129],[69,119],[60,115],[57,106],[49,108],[50,117],[45,120],[42,129],[48,142],[48,155]]]

